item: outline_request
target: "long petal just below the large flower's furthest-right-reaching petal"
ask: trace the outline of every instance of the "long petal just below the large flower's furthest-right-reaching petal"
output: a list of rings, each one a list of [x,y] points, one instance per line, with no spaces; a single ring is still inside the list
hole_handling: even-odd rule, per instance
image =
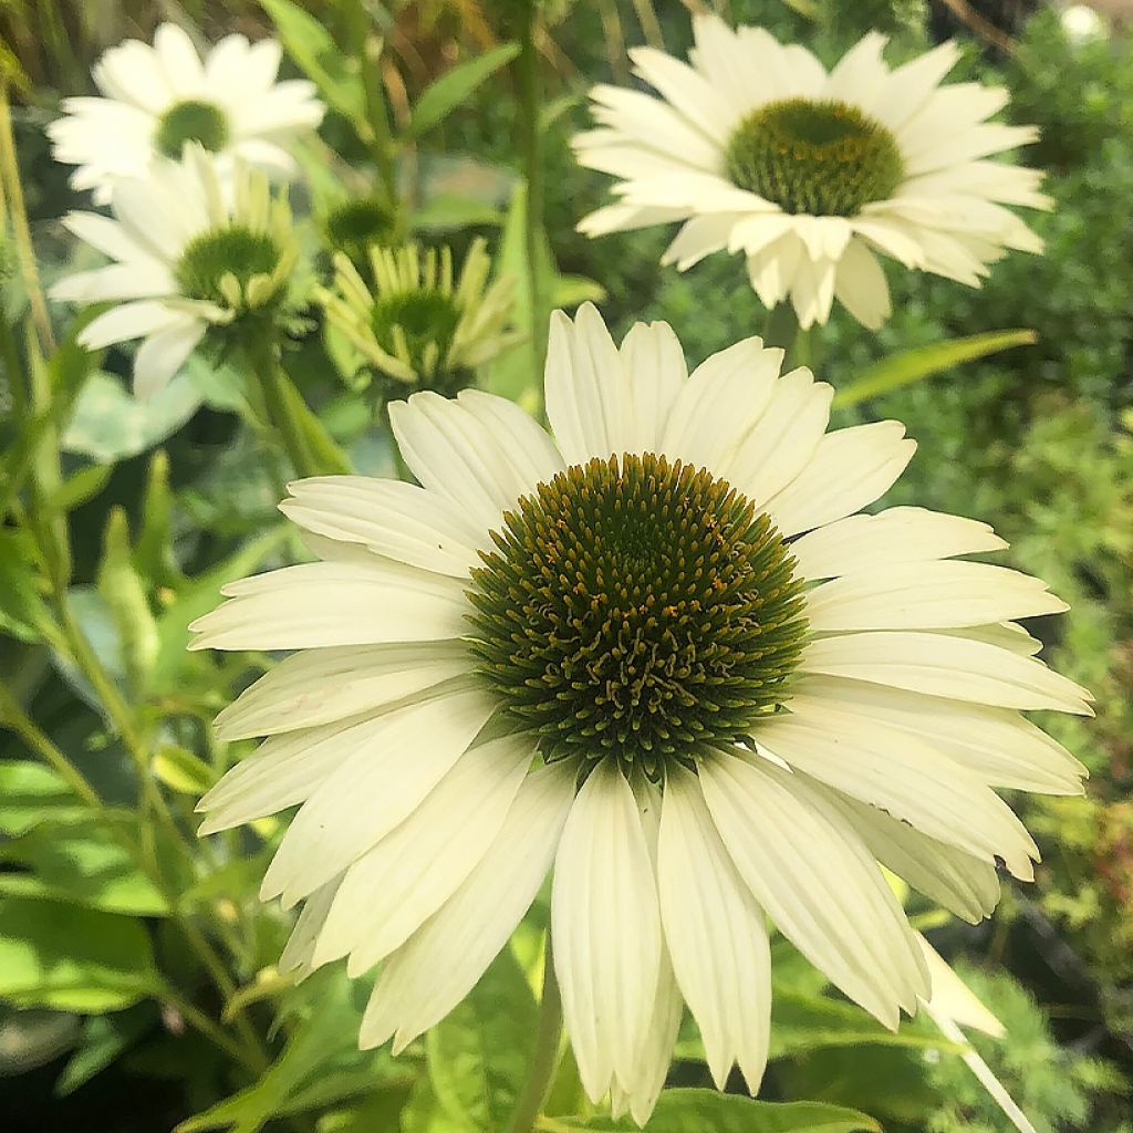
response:
[[[990,786],[1043,794],[1081,794],[1085,768],[1017,712],[906,692],[836,676],[806,676],[792,706],[836,708],[915,735]]]

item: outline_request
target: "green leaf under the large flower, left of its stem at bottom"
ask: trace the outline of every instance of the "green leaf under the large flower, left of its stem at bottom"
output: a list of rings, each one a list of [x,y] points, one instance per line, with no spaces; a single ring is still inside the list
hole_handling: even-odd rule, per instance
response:
[[[495,1130],[523,1084],[538,1012],[510,948],[426,1038],[433,1092],[460,1127]]]

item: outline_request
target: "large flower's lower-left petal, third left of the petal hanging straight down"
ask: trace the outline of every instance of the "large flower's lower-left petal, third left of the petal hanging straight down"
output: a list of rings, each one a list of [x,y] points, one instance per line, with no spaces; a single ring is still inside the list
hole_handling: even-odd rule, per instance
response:
[[[299,809],[259,896],[307,896],[403,823],[465,753],[492,714],[478,689],[423,700],[377,717],[365,743]]]

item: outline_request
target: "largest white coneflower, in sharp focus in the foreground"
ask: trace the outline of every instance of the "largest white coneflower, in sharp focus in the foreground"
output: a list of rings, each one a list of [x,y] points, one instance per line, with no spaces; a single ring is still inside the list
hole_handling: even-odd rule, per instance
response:
[[[1065,608],[917,508],[913,443],[827,433],[830,387],[748,339],[690,375],[664,323],[551,329],[548,435],[477,391],[391,406],[419,480],[291,485],[318,562],[228,586],[195,648],[297,650],[218,718],[267,736],[203,833],[299,811],[262,896],[281,966],[381,973],[361,1042],[451,1011],[553,870],[590,1098],[644,1122],[688,1004],[723,1085],[767,1057],[765,917],[889,1026],[928,999],[878,862],[978,921],[1034,843],[996,787],[1081,790],[1022,715],[1089,713],[1014,619]]]

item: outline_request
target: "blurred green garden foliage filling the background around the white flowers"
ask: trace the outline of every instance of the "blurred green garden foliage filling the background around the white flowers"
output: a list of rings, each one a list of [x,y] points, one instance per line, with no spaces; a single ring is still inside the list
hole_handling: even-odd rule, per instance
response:
[[[663,43],[683,53],[689,11],[701,7],[697,0],[547,0],[535,25],[548,237],[538,271],[548,297],[570,304],[604,297],[606,317],[621,332],[638,318],[665,318],[691,363],[761,326],[742,271],[726,256],[684,275],[663,271],[666,233],[659,230],[596,241],[576,233],[605,179],[577,168],[568,142],[586,123],[586,86],[628,82],[627,45]],[[1032,0],[733,0],[719,7],[735,22],[804,40],[828,59],[870,27],[893,36],[893,58],[955,35],[965,48],[960,70],[1006,84],[1010,114],[1041,130],[1026,160],[1049,171],[1047,191],[1056,202],[1031,220],[1046,240],[1043,257],[1007,258],[980,291],[894,272],[894,316],[880,333],[836,309],[804,349],[840,386],[895,349],[1000,327],[1037,332],[1030,346],[843,404],[836,423],[905,421],[920,449],[892,502],[993,522],[1012,543],[1011,560],[1071,603],[1068,615],[1034,631],[1048,634],[1051,662],[1098,696],[1094,721],[1043,722],[1090,768],[1087,795],[1021,803],[1043,863],[1034,886],[1005,888],[993,920],[972,928],[927,908],[912,911],[1005,1024],[1006,1040],[978,1038],[977,1047],[1040,1133],[1128,1133],[1133,39],[1106,26],[1071,36],[1059,10]],[[438,76],[510,42],[526,9],[525,0],[367,3],[372,35],[383,43],[377,66],[395,127],[410,129],[414,108]],[[349,90],[358,82],[357,61],[326,44],[352,42],[351,11],[337,0],[297,7],[282,0],[3,0],[0,67],[16,103],[45,281],[73,254],[59,218],[80,202],[50,160],[43,126],[61,97],[87,91],[102,50],[130,35],[148,39],[161,19],[214,41],[231,31],[270,34],[275,17],[284,22],[287,67],[313,76],[322,70],[325,83]],[[304,16],[323,29],[321,39],[310,37]],[[443,238],[462,252],[485,236],[504,267],[522,272],[522,131],[511,54],[500,56],[497,69],[414,138],[399,176],[419,238]],[[331,101],[323,137],[339,156],[329,150],[307,155],[312,199],[303,199],[308,190],[295,191],[300,213],[317,215],[321,194],[365,194],[376,181],[365,139]],[[7,317],[18,317],[26,296],[7,235],[0,288]],[[189,854],[178,845],[193,841],[197,795],[247,747],[218,746],[208,721],[269,661],[186,654],[185,627],[213,605],[221,581],[298,553],[274,510],[267,442],[252,426],[241,375],[194,361],[161,394],[138,403],[123,385],[125,356],[84,359],[65,348],[53,366],[59,420],[66,410],[67,424],[45,513],[65,525],[74,552],[68,607],[148,746],[139,775],[122,719],[107,718],[107,690],[79,674],[75,642],[53,636],[35,583],[51,564],[37,562],[15,528],[0,528],[7,705],[0,722],[9,727],[0,733],[0,1127],[496,1127],[522,1077],[516,1050],[526,1049],[534,1025],[530,988],[544,906],[469,1002],[394,1062],[355,1049],[365,989],[341,971],[320,972],[298,988],[274,976],[289,926],[258,905],[255,891],[279,824],[265,820],[256,836],[225,835]],[[522,398],[534,367],[528,343],[482,380]],[[290,368],[358,470],[390,472],[373,399],[353,381],[333,335],[296,343]],[[23,443],[10,408],[0,376],[8,468]],[[46,747],[66,752],[87,776],[111,826],[36,761]],[[148,872],[123,851],[122,837],[145,847]],[[194,932],[225,957],[219,991]],[[857,1008],[821,994],[789,949],[777,961],[776,1049],[764,1097],[854,1107],[895,1133],[1006,1127],[930,1026],[918,1021],[893,1040]],[[198,1015],[232,1049],[196,1025]],[[478,1034],[489,1036],[486,1046]],[[706,1084],[695,1034],[682,1049],[688,1058],[674,1066],[671,1083]],[[578,1113],[578,1094],[568,1066],[548,1111]],[[695,1127],[666,1118],[664,1109],[657,1121],[658,1130]],[[597,1126],[560,1123],[555,1133],[580,1127]],[[874,1126],[837,1126],[851,1127]]]

